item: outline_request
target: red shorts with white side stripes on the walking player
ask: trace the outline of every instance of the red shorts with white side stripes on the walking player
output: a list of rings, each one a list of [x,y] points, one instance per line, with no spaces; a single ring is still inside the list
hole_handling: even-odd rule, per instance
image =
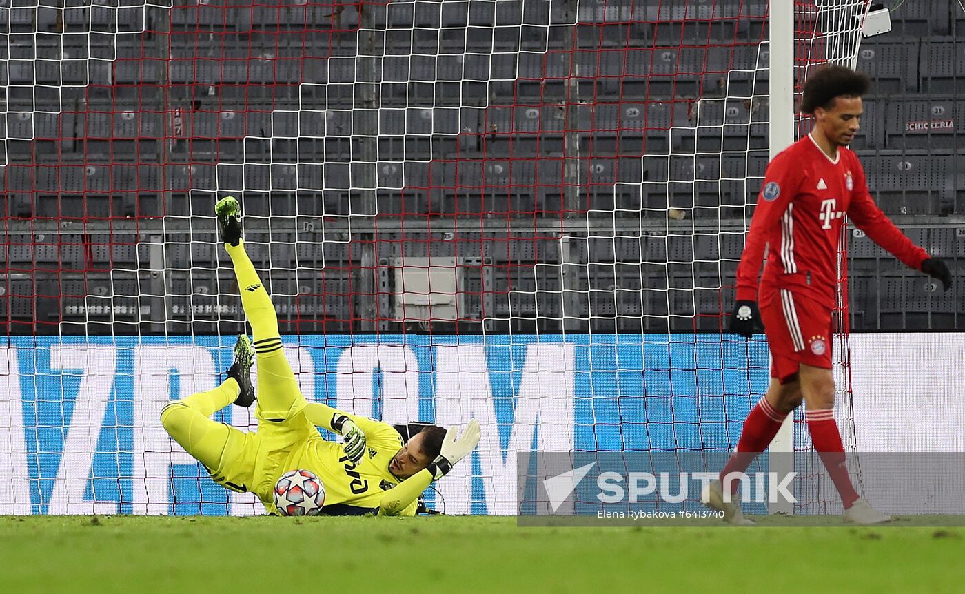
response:
[[[798,366],[831,368],[831,309],[814,299],[776,289],[758,304],[771,351],[771,377],[786,383]]]

